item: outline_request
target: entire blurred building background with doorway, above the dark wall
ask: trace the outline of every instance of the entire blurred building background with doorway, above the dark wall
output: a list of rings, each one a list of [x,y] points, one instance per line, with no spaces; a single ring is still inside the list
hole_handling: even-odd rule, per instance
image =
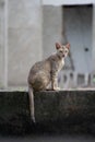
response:
[[[27,87],[31,67],[70,43],[61,88],[95,87],[95,0],[0,0],[0,90]]]

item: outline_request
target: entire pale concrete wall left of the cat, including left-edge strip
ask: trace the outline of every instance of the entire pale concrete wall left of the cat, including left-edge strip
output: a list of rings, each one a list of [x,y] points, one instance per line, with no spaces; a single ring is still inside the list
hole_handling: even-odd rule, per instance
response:
[[[43,57],[40,0],[0,1],[0,88],[26,85]]]

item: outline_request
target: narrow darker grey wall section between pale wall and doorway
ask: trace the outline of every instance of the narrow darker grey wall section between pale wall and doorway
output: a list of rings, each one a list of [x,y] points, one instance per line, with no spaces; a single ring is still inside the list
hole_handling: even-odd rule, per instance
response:
[[[44,58],[56,51],[55,43],[62,39],[61,7],[43,7],[43,48]]]

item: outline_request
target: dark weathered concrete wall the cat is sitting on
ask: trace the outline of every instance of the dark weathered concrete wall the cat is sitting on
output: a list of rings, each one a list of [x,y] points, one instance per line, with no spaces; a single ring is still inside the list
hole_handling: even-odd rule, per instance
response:
[[[34,125],[26,92],[0,92],[0,133],[95,133],[95,91],[35,93]]]

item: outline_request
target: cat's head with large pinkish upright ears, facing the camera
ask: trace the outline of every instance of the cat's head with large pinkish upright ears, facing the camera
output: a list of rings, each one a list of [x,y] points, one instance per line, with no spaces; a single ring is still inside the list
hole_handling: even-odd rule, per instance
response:
[[[56,49],[57,49],[57,55],[60,58],[66,58],[69,54],[69,49],[70,49],[70,44],[66,44],[66,45],[60,45],[59,43],[56,43]]]

